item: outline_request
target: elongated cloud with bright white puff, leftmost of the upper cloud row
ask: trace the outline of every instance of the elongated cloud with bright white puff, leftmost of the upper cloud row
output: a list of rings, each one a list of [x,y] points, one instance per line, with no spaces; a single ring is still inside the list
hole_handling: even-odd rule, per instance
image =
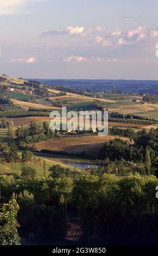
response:
[[[42,33],[42,35],[85,35],[84,27],[67,27],[64,29],[53,29]]]

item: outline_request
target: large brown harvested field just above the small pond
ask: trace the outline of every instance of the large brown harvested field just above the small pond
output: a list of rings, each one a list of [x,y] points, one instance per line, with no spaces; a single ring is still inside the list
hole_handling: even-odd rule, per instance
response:
[[[102,149],[105,142],[110,139],[116,138],[115,136],[66,136],[61,139],[49,139],[36,143],[37,149],[65,151],[67,153],[77,154],[83,151],[90,156],[99,156],[99,151]],[[128,138],[122,138],[128,141]]]

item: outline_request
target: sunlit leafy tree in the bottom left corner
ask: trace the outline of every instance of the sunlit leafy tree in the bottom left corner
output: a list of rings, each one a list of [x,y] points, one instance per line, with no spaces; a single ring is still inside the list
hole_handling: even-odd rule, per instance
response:
[[[20,236],[17,228],[19,224],[16,220],[19,206],[16,200],[10,200],[8,204],[3,204],[0,209],[0,243],[1,245],[20,245]]]

